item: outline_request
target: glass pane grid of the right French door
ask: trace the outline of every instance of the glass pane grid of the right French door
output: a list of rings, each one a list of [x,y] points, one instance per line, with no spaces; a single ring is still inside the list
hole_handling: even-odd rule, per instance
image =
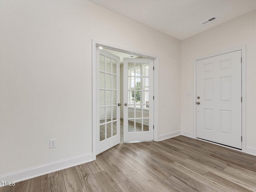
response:
[[[149,63],[128,62],[128,132],[149,131]]]

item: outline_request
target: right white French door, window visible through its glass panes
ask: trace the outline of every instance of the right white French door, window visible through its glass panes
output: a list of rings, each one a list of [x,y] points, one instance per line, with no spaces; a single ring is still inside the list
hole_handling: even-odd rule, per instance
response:
[[[124,142],[153,140],[153,60],[124,58]]]

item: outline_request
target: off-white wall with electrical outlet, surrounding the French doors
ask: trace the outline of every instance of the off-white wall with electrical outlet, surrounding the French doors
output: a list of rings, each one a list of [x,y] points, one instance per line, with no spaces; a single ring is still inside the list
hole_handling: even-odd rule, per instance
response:
[[[92,152],[92,39],[159,56],[159,134],[180,130],[180,40],[83,0],[1,0],[0,24],[0,175]]]

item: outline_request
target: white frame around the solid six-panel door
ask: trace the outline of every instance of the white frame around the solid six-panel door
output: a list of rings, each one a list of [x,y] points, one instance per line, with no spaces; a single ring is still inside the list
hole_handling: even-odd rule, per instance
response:
[[[246,46],[240,46],[240,47],[236,47],[236,48],[232,48],[230,50],[225,50],[225,51],[221,51],[221,52],[217,52],[214,54],[209,54],[206,56],[202,56],[202,57],[198,57],[196,59],[194,59],[194,94],[193,94],[193,102],[194,102],[194,134],[193,137],[197,140],[202,140],[199,138],[196,138],[196,61],[198,60],[202,60],[202,59],[206,59],[206,58],[210,58],[210,57],[214,57],[214,56],[218,56],[218,55],[223,55],[223,54],[227,54],[230,52],[234,52],[234,51],[239,51],[241,50],[242,52],[242,152],[246,152]],[[206,140],[202,140],[205,142],[210,142],[210,141],[206,141]],[[238,150],[241,151],[239,149],[236,148],[232,148],[229,146],[224,146],[222,144],[217,144],[214,142],[210,142],[212,144],[216,144],[219,146],[223,146],[226,148],[230,148],[233,150]]]

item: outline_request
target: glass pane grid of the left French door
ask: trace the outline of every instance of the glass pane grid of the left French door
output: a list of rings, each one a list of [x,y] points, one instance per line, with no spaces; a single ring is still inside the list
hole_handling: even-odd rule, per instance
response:
[[[116,60],[100,54],[100,142],[117,135]]]

